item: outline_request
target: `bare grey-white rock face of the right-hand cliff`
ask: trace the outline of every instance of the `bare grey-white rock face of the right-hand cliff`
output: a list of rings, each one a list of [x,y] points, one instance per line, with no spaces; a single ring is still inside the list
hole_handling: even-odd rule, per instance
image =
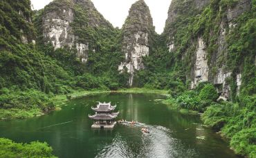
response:
[[[176,52],[176,46],[174,43],[177,43],[175,37],[176,30],[179,29],[179,27],[176,26],[176,19],[179,19],[181,16],[195,17],[196,15],[201,14],[200,10],[204,6],[208,6],[209,2],[210,1],[207,0],[172,1],[165,26],[165,34],[167,34],[167,47],[169,48],[170,52]],[[224,16],[221,20],[221,23],[219,24],[217,42],[214,43],[216,49],[214,49],[211,54],[209,54],[207,51],[208,44],[206,44],[204,41],[205,37],[204,39],[202,37],[204,32],[199,33],[196,38],[192,38],[190,41],[188,41],[191,42],[191,44],[186,48],[186,50],[183,50],[182,60],[184,60],[185,57],[192,59],[190,61],[191,70],[188,71],[189,74],[187,74],[187,80],[191,80],[192,89],[196,88],[200,82],[210,81],[216,86],[222,99],[229,99],[231,88],[230,84],[226,80],[229,77],[236,76],[235,83],[237,86],[237,94],[239,94],[241,87],[241,70],[237,70],[235,74],[232,74],[232,70],[228,68],[228,50],[226,37],[227,34],[229,34],[229,32],[231,32],[232,29],[237,26],[237,23],[234,21],[236,17],[250,10],[250,3],[250,0],[239,0],[237,3],[235,3],[235,6],[229,6],[224,11],[226,12],[226,17]],[[191,7],[190,10],[184,11],[182,6],[194,7]],[[193,8],[197,8],[197,11],[193,10]],[[219,8],[219,12],[221,12],[221,8]],[[208,35],[208,41],[210,41],[212,35],[213,28],[210,30]],[[180,43],[177,44],[180,45]],[[193,49],[193,46],[195,50]],[[188,52],[191,50],[194,50],[194,52],[190,53],[189,55]]]

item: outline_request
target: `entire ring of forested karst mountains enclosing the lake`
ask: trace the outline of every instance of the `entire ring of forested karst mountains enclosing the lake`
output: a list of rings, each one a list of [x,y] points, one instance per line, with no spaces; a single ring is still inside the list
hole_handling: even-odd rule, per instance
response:
[[[0,1],[0,119],[42,115],[71,92],[169,90],[165,103],[256,157],[255,0],[172,0],[163,34],[143,0],[122,28],[90,0],[30,5]]]

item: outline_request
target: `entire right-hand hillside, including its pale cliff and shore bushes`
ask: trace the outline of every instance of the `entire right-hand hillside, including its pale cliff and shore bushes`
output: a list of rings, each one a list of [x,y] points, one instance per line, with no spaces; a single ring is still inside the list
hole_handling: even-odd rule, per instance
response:
[[[199,5],[199,4],[203,4]],[[164,36],[187,90],[167,100],[203,112],[237,154],[256,156],[256,1],[172,1]],[[185,9],[190,6],[191,9]]]

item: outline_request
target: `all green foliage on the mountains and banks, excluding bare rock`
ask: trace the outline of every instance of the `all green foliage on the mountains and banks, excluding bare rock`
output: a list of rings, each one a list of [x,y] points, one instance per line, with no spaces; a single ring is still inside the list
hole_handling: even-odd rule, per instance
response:
[[[219,94],[211,83],[200,83],[195,90],[190,90],[190,79],[187,79],[196,50],[195,41],[203,37],[211,61],[217,50],[225,10],[236,3],[212,0],[201,14],[195,8],[183,12],[175,23],[166,26],[164,34],[155,35],[150,55],[143,59],[145,70],[136,72],[134,83],[140,88],[169,90],[171,97],[165,103],[202,112],[204,123],[228,137],[237,154],[256,157],[255,0],[252,0],[249,12],[232,21],[237,23],[235,28],[225,26],[228,55],[210,68],[214,72],[224,64],[233,74],[241,72],[239,95],[235,75],[226,79],[231,88],[230,101],[217,100]],[[180,10],[188,8],[181,1],[176,7]],[[71,24],[74,32],[81,42],[89,41],[92,47],[86,64],[77,59],[75,48],[54,50],[51,44],[44,43],[41,28],[44,10],[33,12],[29,0],[0,1],[0,119],[33,117],[54,110],[53,98],[56,95],[80,90],[127,88],[129,75],[118,72],[118,65],[125,58],[120,43],[122,30],[113,26],[83,26],[90,19],[81,6],[73,8],[76,14]],[[46,8],[51,9],[55,8]],[[95,17],[102,18],[100,14],[95,14]],[[173,52],[166,47],[170,32],[175,39]],[[53,157],[47,144],[22,145],[0,139],[0,148],[12,157]],[[17,152],[12,152],[13,148]],[[29,152],[30,148],[35,152]],[[38,148],[45,152],[39,153]],[[0,155],[3,150],[0,150]]]

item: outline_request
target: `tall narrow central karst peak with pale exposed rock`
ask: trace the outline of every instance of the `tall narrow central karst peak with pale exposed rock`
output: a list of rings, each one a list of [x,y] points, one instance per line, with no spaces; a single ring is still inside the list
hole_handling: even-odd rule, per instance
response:
[[[130,74],[129,86],[133,85],[136,70],[143,70],[143,57],[149,55],[151,39],[154,34],[154,26],[149,8],[145,1],[134,3],[124,26],[122,27],[122,52],[125,54],[118,70]]]

